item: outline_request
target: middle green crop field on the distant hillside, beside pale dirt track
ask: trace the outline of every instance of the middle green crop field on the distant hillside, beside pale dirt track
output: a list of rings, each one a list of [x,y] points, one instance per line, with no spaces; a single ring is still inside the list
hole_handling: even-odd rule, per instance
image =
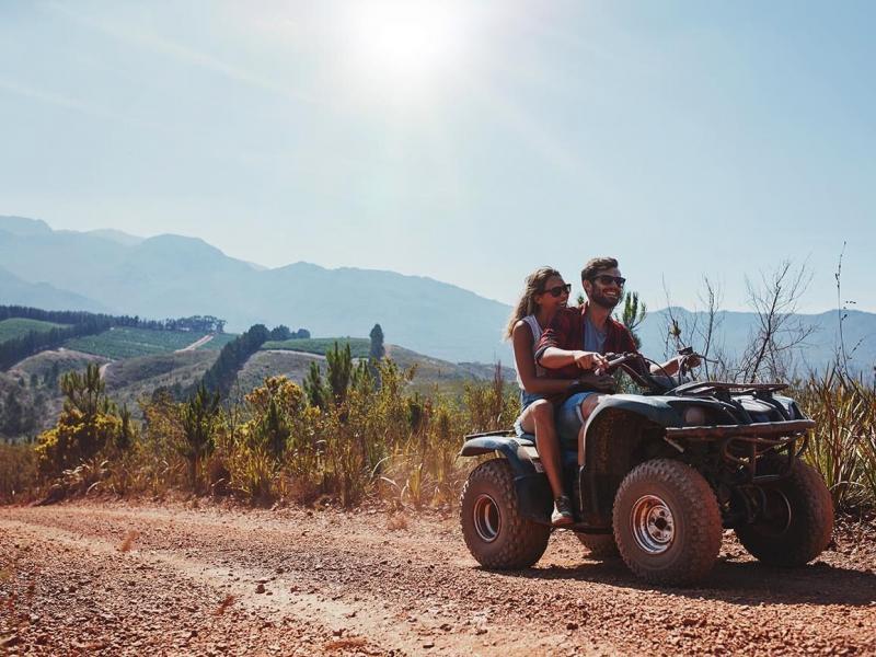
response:
[[[65,346],[68,349],[118,360],[176,351],[205,335],[207,334],[196,331],[151,331],[116,326],[97,335],[69,339]]]

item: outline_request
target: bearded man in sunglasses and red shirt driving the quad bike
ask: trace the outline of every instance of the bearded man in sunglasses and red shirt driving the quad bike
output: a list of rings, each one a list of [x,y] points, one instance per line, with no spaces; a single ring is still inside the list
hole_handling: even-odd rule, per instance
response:
[[[561,308],[535,346],[535,361],[553,370],[551,377],[577,379],[581,370],[599,374],[608,364],[603,354],[636,351],[630,331],[611,316],[623,298],[625,283],[613,257],[596,257],[585,265],[581,285],[587,302],[578,308]],[[680,358],[672,358],[662,366],[652,366],[652,370],[673,374],[679,366]],[[577,392],[557,408],[557,434],[566,440],[577,436],[579,465],[584,465],[584,425],[604,392],[613,390],[613,383],[608,374],[597,377],[595,388],[603,393]]]

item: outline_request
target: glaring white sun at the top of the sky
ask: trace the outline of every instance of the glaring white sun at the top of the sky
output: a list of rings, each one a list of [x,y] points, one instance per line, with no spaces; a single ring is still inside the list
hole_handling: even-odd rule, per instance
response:
[[[395,89],[430,87],[466,55],[465,5],[449,1],[356,2],[346,41],[358,76]]]

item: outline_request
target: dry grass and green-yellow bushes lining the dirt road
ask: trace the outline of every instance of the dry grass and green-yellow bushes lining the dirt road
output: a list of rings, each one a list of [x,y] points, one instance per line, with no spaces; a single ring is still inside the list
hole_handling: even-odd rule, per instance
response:
[[[223,403],[203,384],[183,402],[158,391],[140,400],[141,424],[107,399],[96,365],[68,372],[56,426],[34,445],[0,446],[0,498],[184,492],[253,505],[452,506],[471,465],[457,459],[461,437],[506,428],[519,408],[499,371],[461,395],[430,395],[412,390],[413,370],[357,364],[348,345],[330,350],[326,366],[302,385],[269,377],[240,401]],[[818,423],[806,458],[837,507],[872,512],[874,390],[833,371],[791,394]]]

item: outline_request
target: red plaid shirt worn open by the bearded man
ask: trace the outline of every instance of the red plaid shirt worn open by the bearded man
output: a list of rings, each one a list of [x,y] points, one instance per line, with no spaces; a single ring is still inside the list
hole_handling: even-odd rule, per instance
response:
[[[561,308],[557,310],[551,324],[541,334],[539,344],[535,345],[535,362],[542,365],[541,357],[548,347],[557,347],[569,351],[584,349],[586,325],[584,314],[586,312],[586,303],[576,308]],[[602,353],[624,354],[636,351],[636,344],[633,342],[633,336],[626,326],[609,316],[606,320],[606,344],[602,347]],[[581,376],[581,369],[572,362],[558,369],[551,369],[549,376],[552,379],[577,379]]]

